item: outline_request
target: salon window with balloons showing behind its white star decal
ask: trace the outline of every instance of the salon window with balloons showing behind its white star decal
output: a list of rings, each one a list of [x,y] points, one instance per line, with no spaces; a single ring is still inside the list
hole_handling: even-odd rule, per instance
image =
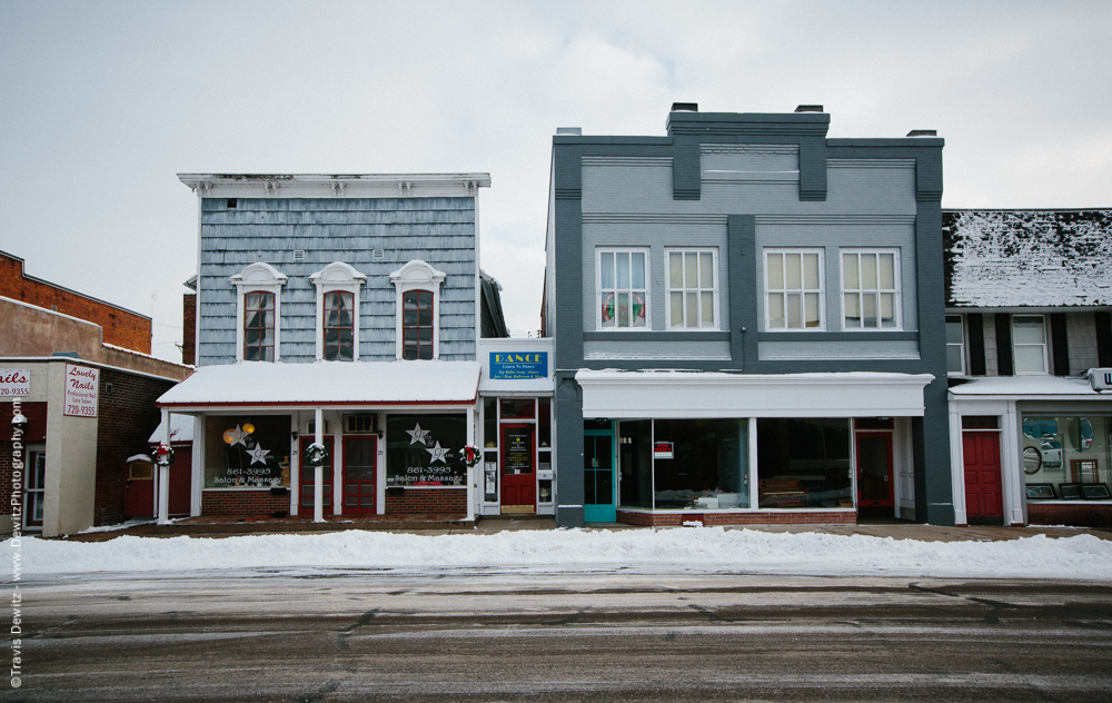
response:
[[[288,415],[205,418],[205,487],[289,487]]]

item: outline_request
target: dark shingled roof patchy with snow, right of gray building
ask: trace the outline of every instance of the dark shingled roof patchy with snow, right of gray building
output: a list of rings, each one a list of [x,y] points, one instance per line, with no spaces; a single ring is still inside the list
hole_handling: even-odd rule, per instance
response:
[[[944,210],[947,305],[1112,305],[1112,210]]]

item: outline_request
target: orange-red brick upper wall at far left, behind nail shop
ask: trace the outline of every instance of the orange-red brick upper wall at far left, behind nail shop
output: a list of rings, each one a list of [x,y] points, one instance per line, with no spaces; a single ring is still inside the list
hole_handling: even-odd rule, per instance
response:
[[[61,286],[26,276],[23,259],[0,251],[0,296],[100,325],[103,340],[150,354],[151,320]]]

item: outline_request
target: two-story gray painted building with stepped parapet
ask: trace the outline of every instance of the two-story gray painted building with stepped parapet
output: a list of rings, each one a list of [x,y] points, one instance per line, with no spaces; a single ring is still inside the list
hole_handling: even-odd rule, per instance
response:
[[[560,525],[953,524],[943,140],[828,125],[677,105],[666,137],[558,130]]]

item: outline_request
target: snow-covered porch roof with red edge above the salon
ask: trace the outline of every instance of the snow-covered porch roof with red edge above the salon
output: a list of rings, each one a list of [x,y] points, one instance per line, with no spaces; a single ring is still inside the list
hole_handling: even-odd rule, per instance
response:
[[[167,390],[159,407],[470,405],[477,362],[239,362],[202,366]]]

